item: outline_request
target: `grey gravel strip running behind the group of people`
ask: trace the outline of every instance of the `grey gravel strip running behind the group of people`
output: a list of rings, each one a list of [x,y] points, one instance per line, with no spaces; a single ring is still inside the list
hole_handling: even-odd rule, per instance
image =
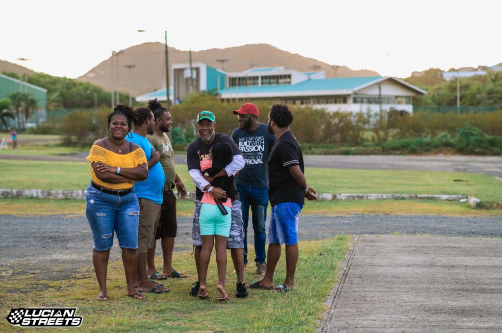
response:
[[[175,250],[191,247],[192,219],[178,218]],[[253,246],[253,229],[249,227]],[[337,234],[432,234],[444,236],[502,237],[502,218],[450,216],[304,215],[299,221],[299,239],[315,240]],[[92,235],[82,217],[0,215],[0,276],[11,271],[21,274],[43,271],[47,278],[73,276],[76,269],[92,272]],[[115,238],[110,259],[120,260]],[[157,249],[160,254],[160,248]],[[253,258],[250,258],[253,260]],[[50,269],[48,269],[50,268]],[[85,268],[88,268],[85,269]]]

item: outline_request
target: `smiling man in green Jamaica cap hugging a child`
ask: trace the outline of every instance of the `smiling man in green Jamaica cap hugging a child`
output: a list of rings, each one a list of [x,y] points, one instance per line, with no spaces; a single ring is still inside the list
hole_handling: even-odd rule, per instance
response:
[[[188,173],[196,186],[192,243],[195,247],[195,265],[197,267],[197,273],[199,273],[199,257],[202,247],[199,214],[202,196],[205,192],[209,192],[216,200],[226,199],[226,192],[219,187],[211,186],[211,181],[217,176],[235,176],[235,174],[244,167],[244,160],[232,138],[226,134],[215,133],[216,118],[212,112],[202,111],[199,113],[195,120],[195,126],[199,132],[200,138],[188,146],[187,166]],[[209,150],[214,144],[221,142],[226,142],[232,147],[232,161],[215,175],[215,177],[202,175],[201,166],[204,164],[205,160],[209,159]],[[247,290],[244,284],[244,228],[242,226],[242,212],[240,210],[240,201],[238,197],[232,200],[231,215],[232,222],[230,226],[230,235],[228,236],[226,247],[230,249],[233,266],[237,274],[236,296],[238,298],[244,298],[247,297]],[[199,287],[200,281],[195,282],[190,290],[190,295],[196,296],[199,294]]]

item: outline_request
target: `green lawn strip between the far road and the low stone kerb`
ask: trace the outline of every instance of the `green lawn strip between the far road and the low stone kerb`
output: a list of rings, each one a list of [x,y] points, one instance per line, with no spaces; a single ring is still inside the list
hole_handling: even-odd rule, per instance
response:
[[[85,189],[89,168],[76,162],[0,160],[0,188]],[[186,166],[177,165],[176,171],[193,191]],[[469,194],[502,203],[502,182],[486,175],[325,168],[306,168],[305,173],[309,185],[320,193]]]

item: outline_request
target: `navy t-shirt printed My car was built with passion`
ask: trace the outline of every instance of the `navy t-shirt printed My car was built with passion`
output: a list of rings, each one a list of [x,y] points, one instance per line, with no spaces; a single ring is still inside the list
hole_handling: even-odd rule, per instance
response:
[[[276,137],[269,133],[267,125],[258,123],[254,132],[237,128],[232,132],[232,139],[237,144],[244,158],[244,169],[239,171],[237,185],[249,187],[269,186],[269,153],[276,142]]]

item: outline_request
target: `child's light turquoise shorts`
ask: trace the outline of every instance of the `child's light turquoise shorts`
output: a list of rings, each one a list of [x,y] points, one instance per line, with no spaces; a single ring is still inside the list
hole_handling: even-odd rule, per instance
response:
[[[218,206],[210,203],[203,203],[200,207],[199,225],[200,235],[220,235],[228,237],[232,224],[232,213],[230,207],[225,206],[228,214],[221,214]]]

